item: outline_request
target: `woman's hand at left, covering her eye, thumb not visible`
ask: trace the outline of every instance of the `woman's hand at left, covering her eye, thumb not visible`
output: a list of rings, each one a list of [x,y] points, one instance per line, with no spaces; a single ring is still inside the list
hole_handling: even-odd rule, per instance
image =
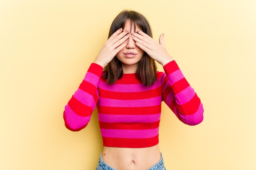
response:
[[[127,43],[125,41],[129,38],[128,30],[122,31],[123,29],[121,28],[110,36],[99,51],[94,63],[104,68],[126,46]]]

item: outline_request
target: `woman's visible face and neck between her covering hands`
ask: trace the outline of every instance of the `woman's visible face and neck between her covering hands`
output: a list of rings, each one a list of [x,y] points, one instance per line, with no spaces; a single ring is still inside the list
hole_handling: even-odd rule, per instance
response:
[[[144,51],[141,50],[132,39],[131,33],[136,33],[138,29],[138,27],[135,28],[134,24],[131,23],[130,20],[126,21],[123,30],[128,30],[129,38],[126,40],[126,46],[116,55],[117,59],[122,63],[123,73],[136,73],[138,62],[141,60],[144,54]]]

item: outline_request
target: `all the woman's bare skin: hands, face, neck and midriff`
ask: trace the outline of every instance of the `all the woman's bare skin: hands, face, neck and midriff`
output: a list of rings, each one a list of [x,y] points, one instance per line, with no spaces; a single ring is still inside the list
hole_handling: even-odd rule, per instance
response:
[[[173,58],[164,46],[164,34],[159,37],[159,43],[146,33],[134,30],[128,20],[123,29],[113,33],[102,46],[94,63],[105,67],[115,56],[121,61],[123,72],[136,73],[138,62],[144,51],[159,64],[164,66]],[[159,146],[148,148],[103,148],[103,160],[117,170],[146,170],[155,165],[161,158]]]

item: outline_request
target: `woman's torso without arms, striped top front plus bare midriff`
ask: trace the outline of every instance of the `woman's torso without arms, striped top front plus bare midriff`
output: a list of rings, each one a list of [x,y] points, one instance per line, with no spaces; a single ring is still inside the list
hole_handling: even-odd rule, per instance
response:
[[[158,73],[158,78],[161,75]],[[122,79],[111,86],[103,78],[99,82],[97,109],[105,144],[102,158],[112,168],[147,170],[161,159],[158,128],[163,78],[149,87],[143,86],[135,74],[123,75]],[[112,128],[112,124],[116,129]],[[124,141],[124,137],[129,140]],[[111,145],[115,147],[109,147]]]

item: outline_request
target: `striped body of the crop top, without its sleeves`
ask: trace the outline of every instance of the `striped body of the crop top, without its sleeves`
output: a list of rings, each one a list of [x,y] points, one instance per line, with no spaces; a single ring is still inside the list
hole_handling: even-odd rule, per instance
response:
[[[157,82],[144,86],[134,74],[124,74],[113,85],[101,76],[97,103],[103,146],[146,148],[158,144],[163,73]]]

